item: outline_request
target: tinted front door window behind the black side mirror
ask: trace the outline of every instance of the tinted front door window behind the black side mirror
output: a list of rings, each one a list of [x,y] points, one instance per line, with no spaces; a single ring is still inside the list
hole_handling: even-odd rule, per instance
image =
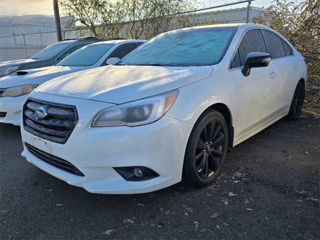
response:
[[[266,46],[262,37],[262,33],[259,29],[252,29],[249,30],[245,33],[243,36],[239,47],[239,58],[236,59],[236,55],[234,56],[232,60],[232,67],[238,67],[238,66],[243,66],[246,55],[249,52],[265,52],[266,53]]]

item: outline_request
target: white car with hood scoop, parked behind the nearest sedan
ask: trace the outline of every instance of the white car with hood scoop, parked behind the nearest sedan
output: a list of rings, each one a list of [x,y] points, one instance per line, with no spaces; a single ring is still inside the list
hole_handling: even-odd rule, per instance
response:
[[[0,78],[0,122],[20,125],[23,102],[34,88],[54,77],[106,65],[122,58],[145,40],[107,40],[86,45],[55,66],[16,71]]]

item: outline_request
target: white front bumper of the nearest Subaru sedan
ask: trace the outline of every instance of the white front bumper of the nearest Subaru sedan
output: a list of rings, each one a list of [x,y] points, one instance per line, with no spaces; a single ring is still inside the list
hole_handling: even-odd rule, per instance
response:
[[[45,95],[45,98],[43,98]],[[142,193],[181,180],[184,151],[192,125],[169,116],[142,126],[91,127],[95,113],[110,103],[32,94],[52,102],[76,105],[79,120],[64,144],[30,134],[21,126],[22,156],[49,174],[94,193]],[[25,142],[72,163],[84,176],[56,168],[33,155]],[[126,181],[113,167],[145,166],[159,176]]]

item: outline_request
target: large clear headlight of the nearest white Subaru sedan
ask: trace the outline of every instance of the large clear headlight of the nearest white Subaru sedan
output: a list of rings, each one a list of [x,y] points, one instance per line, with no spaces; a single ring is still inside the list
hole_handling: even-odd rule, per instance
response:
[[[174,102],[178,90],[104,108],[96,114],[92,126],[138,126],[158,120]]]

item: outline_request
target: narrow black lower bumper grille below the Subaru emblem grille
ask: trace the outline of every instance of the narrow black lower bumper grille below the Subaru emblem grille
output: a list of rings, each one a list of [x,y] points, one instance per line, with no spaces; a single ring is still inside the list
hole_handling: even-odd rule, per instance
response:
[[[42,150],[40,150],[40,149],[38,149],[28,143],[25,143],[25,146],[33,155],[35,155],[37,158],[41,159],[42,161],[45,161],[46,163],[48,163],[52,166],[55,166],[55,167],[60,168],[64,171],[73,173],[75,175],[84,176],[84,174],[78,168],[76,168],[72,163],[70,163],[60,157],[57,157],[57,156],[54,156],[50,153],[42,151]]]

